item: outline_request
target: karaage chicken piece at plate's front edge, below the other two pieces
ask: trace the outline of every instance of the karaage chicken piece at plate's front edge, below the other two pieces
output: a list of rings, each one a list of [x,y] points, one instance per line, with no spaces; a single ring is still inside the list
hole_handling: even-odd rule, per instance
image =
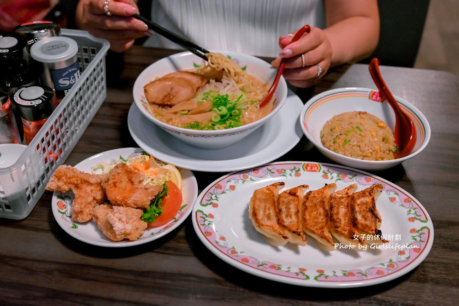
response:
[[[93,209],[92,218],[109,239],[120,241],[127,238],[134,241],[147,226],[140,219],[142,213],[141,209],[103,204]]]

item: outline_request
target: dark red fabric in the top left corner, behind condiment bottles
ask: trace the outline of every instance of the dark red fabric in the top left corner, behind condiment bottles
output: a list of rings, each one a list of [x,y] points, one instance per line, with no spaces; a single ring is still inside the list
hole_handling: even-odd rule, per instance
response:
[[[57,0],[0,0],[0,29],[13,31],[24,22],[41,20]]]

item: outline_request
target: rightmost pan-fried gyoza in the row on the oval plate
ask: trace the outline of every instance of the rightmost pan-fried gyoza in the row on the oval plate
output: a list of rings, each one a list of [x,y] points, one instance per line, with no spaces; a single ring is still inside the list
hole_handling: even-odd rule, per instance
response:
[[[380,239],[369,240],[372,243],[387,242],[381,237],[381,215],[376,209],[376,199],[384,189],[382,184],[373,184],[351,195],[354,227],[369,235],[378,235]],[[368,240],[368,239],[367,239]]]

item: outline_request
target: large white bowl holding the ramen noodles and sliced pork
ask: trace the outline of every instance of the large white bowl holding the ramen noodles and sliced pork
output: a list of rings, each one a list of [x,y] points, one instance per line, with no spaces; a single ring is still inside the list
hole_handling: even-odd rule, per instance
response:
[[[252,55],[246,55],[238,52],[230,51],[213,51],[221,53],[225,56],[230,56],[241,67],[246,66],[246,72],[250,75],[257,76],[262,82],[270,85],[274,81],[277,69],[271,66],[269,63],[256,58]],[[274,93],[273,109],[271,112],[263,118],[254,121],[252,123],[233,127],[224,130],[211,130],[211,131],[200,131],[185,129],[177,126],[169,125],[151,115],[148,101],[145,98],[144,86],[155,80],[156,77],[162,77],[168,73],[193,69],[195,64],[202,64],[202,59],[192,54],[191,52],[181,52],[163,58],[154,62],[148,66],[140,75],[137,77],[134,83],[133,95],[134,103],[140,109],[142,114],[146,116],[151,122],[160,126],[164,131],[174,137],[179,138],[181,141],[186,142],[192,146],[198,148],[217,149],[228,147],[231,144],[240,141],[242,138],[248,136],[250,133],[255,131],[260,126],[274,116],[280,108],[284,105],[285,98],[287,97],[287,84],[284,77],[280,78],[277,89]],[[145,131],[148,133],[148,131]]]

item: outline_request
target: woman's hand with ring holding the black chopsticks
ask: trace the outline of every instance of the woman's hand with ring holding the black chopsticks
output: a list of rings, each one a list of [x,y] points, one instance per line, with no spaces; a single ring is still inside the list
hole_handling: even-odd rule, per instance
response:
[[[80,0],[75,14],[78,28],[87,30],[94,36],[110,42],[110,49],[122,52],[134,44],[134,39],[151,35],[147,25],[134,17],[139,9],[134,0],[110,0],[107,16],[104,11],[105,0]]]

